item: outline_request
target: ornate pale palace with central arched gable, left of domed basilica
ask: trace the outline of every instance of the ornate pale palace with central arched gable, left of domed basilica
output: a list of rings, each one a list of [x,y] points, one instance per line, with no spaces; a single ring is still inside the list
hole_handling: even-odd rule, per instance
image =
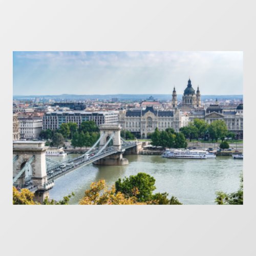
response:
[[[156,128],[165,131],[173,128],[179,132],[180,127],[188,117],[181,115],[178,108],[172,111],[155,110],[153,106],[147,106],[145,110],[120,111],[119,122],[123,130],[130,131],[136,137],[147,138],[148,133],[153,133]]]

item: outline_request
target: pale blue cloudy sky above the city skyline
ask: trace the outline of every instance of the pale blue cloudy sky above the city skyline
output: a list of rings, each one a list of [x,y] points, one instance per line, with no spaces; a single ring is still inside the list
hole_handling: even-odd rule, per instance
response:
[[[243,94],[243,52],[13,52],[13,95]]]

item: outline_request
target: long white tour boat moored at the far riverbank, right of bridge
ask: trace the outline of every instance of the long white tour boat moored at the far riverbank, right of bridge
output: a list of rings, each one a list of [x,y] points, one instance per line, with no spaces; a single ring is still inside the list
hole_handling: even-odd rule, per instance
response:
[[[207,159],[216,158],[216,155],[203,150],[166,150],[162,157],[166,158],[184,158],[184,159]]]

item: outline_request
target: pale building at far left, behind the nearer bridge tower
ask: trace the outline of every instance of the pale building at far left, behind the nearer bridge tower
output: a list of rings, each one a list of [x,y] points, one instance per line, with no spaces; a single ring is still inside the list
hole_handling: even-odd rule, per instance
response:
[[[20,138],[37,139],[42,131],[41,117],[19,117]]]

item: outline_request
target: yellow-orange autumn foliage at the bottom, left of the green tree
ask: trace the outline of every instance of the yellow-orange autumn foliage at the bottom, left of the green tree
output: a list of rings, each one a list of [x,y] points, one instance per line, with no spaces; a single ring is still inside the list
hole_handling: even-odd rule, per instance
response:
[[[134,194],[131,197],[125,197],[120,191],[116,192],[115,186],[111,189],[107,189],[105,181],[100,180],[93,182],[90,189],[86,190],[84,197],[80,200],[80,205],[92,205],[92,204],[146,204],[137,202],[137,191],[134,190]]]

